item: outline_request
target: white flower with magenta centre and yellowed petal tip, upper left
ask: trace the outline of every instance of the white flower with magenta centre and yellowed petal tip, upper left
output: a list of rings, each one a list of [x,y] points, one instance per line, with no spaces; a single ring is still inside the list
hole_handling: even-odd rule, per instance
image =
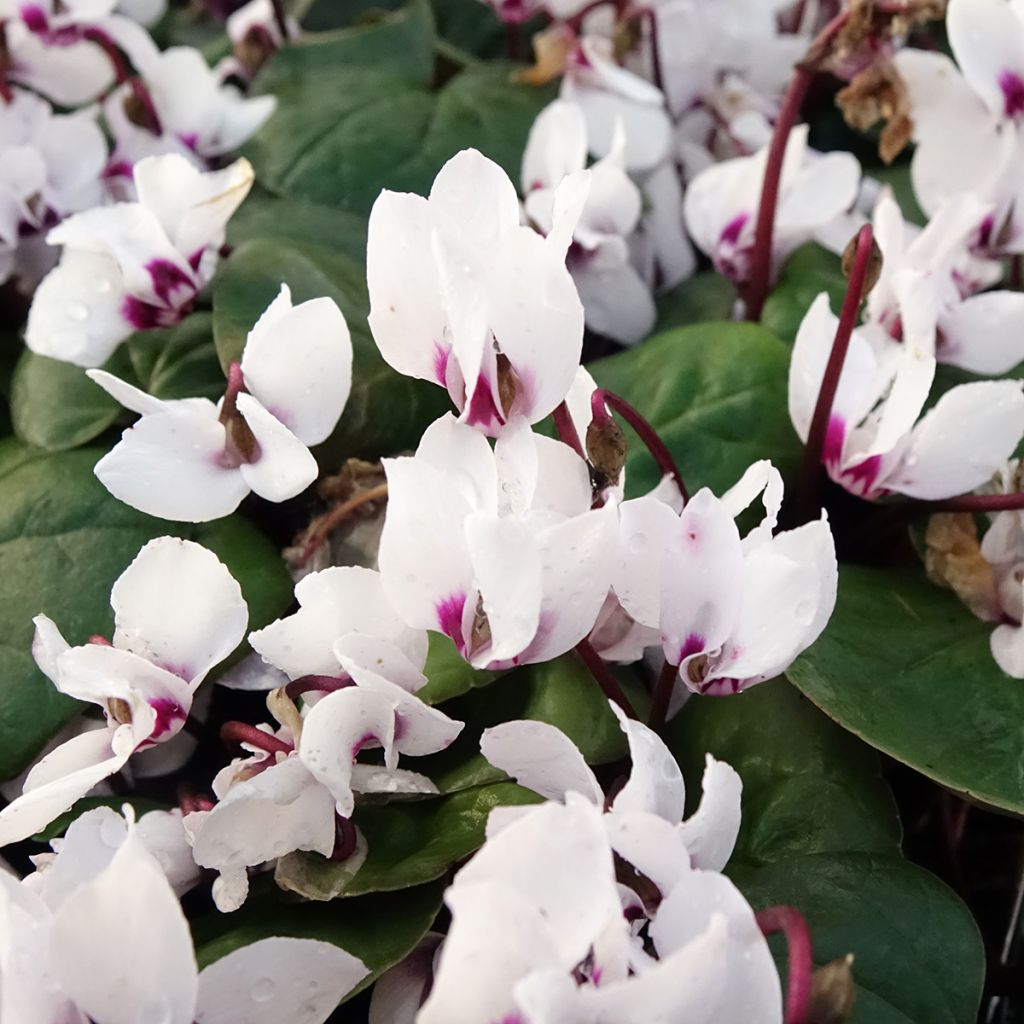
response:
[[[33,299],[28,346],[97,367],[134,331],[177,324],[213,276],[252,182],[245,160],[211,172],[180,156],[140,161],[137,203],[77,213],[50,231],[65,248]]]

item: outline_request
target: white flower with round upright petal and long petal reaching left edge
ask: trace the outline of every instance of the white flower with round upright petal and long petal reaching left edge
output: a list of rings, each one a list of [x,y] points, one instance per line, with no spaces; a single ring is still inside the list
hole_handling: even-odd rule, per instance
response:
[[[68,696],[98,705],[105,726],[46,755],[20,797],[0,811],[0,846],[26,839],[120,771],[138,751],[175,736],[206,674],[245,636],[239,585],[190,541],[151,541],[111,591],[113,644],[72,647],[36,616],[33,656]]]

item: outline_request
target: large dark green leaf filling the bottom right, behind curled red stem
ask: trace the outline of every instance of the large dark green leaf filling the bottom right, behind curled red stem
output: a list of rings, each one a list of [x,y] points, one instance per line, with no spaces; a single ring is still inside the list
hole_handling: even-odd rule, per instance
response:
[[[727,873],[755,909],[804,913],[816,964],[854,954],[854,1024],[977,1019],[977,927],[952,892],[902,858],[873,752],[782,680],[691,699],[669,742],[691,791],[706,751],[739,772],[743,821]]]

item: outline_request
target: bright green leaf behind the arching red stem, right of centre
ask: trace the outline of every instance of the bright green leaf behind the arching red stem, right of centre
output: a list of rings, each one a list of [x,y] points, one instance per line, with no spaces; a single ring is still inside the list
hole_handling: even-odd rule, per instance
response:
[[[680,328],[588,369],[653,425],[691,492],[709,486],[721,494],[758,459],[771,459],[783,474],[799,464],[786,411],[790,350],[762,327]],[[660,479],[632,436],[626,466],[631,495]]]

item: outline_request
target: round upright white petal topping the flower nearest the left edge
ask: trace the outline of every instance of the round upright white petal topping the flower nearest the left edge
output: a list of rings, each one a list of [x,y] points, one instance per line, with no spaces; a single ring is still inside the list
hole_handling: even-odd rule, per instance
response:
[[[249,608],[211,551],[191,541],[151,541],[111,591],[114,644],[193,687],[242,642]]]

